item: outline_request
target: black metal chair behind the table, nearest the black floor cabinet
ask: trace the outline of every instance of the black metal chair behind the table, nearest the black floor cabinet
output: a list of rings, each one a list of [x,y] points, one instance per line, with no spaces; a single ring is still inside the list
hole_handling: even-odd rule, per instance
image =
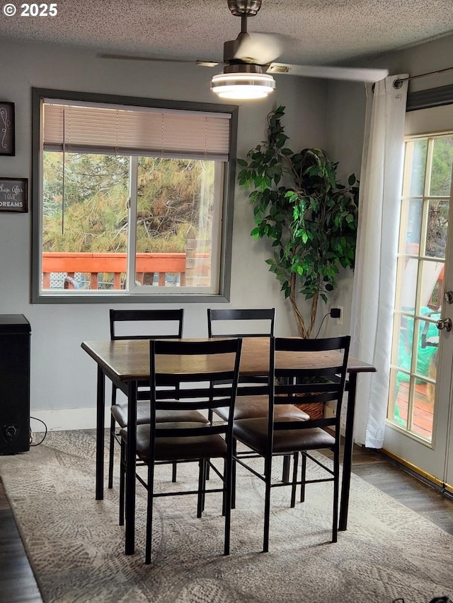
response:
[[[183,336],[184,310],[113,310],[110,309],[110,339],[181,339]],[[146,329],[149,332],[146,333]],[[112,385],[110,418],[110,452],[108,464],[108,487],[113,487],[113,462],[116,424],[127,426],[127,402],[117,404],[117,388]],[[200,413],[159,413],[158,421],[206,421]],[[149,423],[149,381],[139,383],[137,391],[137,425]],[[173,465],[172,481],[176,481],[176,464]]]

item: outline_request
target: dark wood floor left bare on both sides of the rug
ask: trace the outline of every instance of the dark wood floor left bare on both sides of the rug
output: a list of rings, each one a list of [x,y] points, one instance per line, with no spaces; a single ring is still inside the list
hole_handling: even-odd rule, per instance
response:
[[[453,499],[403,472],[377,452],[355,447],[352,472],[453,534]],[[0,603],[42,599],[0,481]]]

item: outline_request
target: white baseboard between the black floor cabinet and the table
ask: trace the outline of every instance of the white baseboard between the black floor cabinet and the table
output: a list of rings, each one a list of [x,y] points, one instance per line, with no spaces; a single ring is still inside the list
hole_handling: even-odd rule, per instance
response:
[[[45,431],[72,431],[74,429],[96,429],[96,408],[89,409],[56,409],[32,410],[30,412],[30,428],[35,433]],[[39,421],[34,421],[38,418]],[[104,426],[110,426],[110,406],[105,406]]]

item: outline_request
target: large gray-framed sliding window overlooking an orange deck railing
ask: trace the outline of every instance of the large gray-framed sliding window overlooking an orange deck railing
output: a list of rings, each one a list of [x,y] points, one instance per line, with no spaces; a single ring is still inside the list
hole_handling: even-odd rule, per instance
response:
[[[33,301],[228,298],[236,112],[33,90]]]

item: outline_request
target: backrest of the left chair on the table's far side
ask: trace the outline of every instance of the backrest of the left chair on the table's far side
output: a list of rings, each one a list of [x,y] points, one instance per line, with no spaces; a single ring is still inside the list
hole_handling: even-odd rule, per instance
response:
[[[183,308],[179,310],[110,309],[110,339],[150,339],[151,337],[181,339],[183,318]],[[120,323],[121,327],[117,323]]]

